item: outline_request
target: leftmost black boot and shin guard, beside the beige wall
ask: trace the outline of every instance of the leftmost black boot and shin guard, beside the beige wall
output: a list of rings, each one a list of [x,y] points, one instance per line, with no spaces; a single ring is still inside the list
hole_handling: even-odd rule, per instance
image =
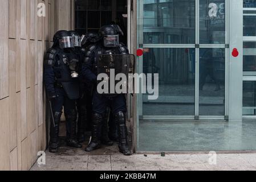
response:
[[[50,126],[50,144],[49,144],[49,152],[55,153],[58,152],[59,147],[59,123],[60,117],[62,116],[61,112],[54,113],[54,121],[51,118],[51,126]],[[54,126],[55,124],[55,126]]]

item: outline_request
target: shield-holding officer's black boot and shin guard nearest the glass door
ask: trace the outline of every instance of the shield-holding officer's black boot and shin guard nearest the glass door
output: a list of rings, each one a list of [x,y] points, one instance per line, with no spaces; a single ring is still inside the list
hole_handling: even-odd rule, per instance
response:
[[[118,125],[119,131],[119,151],[124,155],[132,155],[131,151],[129,150],[128,142],[127,142],[127,127],[125,125],[126,119],[125,114],[120,111],[119,113],[115,114],[115,122]]]

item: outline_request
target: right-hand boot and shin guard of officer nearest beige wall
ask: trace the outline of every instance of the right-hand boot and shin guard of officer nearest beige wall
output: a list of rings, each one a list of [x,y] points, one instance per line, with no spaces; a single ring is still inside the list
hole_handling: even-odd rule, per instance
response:
[[[76,110],[69,110],[66,115],[66,122],[70,125],[70,136],[67,136],[67,146],[82,148],[82,144],[76,139]]]

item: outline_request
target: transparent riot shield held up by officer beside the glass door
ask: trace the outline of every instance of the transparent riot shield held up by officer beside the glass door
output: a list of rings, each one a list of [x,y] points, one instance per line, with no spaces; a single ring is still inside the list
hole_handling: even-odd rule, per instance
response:
[[[117,75],[120,75],[120,73],[126,77],[126,81],[122,80],[123,84],[121,87],[126,89],[126,93],[129,93],[129,74],[133,74],[134,71],[134,55],[99,55],[99,60],[97,61],[97,74],[99,75],[103,73],[107,76],[104,80],[98,81],[98,84],[102,81],[108,82],[109,92],[104,94],[118,94],[115,88],[116,84],[120,84],[120,80],[116,80],[115,78]],[[113,83],[115,83],[115,85],[113,85]]]

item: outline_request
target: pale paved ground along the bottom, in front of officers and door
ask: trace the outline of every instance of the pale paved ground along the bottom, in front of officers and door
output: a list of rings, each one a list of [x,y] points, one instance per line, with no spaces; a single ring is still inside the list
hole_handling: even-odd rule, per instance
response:
[[[31,171],[254,171],[256,151],[248,154],[133,154],[124,156],[117,146],[104,147],[94,154],[82,149],[58,154],[46,151],[46,164],[35,163]],[[63,148],[62,148],[63,149]],[[74,154],[75,151],[75,154]],[[109,153],[110,152],[110,153]]]

